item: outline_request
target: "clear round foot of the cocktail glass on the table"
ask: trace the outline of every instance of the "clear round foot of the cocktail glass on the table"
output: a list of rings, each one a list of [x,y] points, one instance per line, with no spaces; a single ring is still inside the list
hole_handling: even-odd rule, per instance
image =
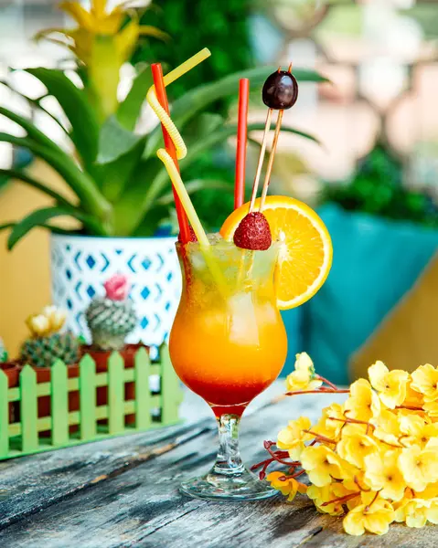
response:
[[[257,501],[278,493],[245,468],[232,474],[219,474],[212,469],[206,476],[184,481],[180,490],[189,497],[204,501]]]

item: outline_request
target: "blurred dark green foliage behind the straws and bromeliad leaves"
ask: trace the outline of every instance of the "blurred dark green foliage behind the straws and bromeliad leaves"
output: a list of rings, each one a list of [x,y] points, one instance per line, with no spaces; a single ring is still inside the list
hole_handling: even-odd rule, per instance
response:
[[[144,23],[158,26],[170,35],[166,43],[148,41],[137,49],[133,63],[161,62],[175,68],[199,49],[208,47],[208,61],[177,79],[167,92],[171,100],[205,83],[216,81],[243,68],[251,67],[249,16],[252,0],[163,0],[144,14]],[[220,100],[213,111],[226,116],[233,98]],[[217,230],[233,208],[234,162],[227,146],[208,151],[190,165],[185,179],[206,177],[229,184],[229,192],[208,188],[192,195],[198,215],[208,231]]]

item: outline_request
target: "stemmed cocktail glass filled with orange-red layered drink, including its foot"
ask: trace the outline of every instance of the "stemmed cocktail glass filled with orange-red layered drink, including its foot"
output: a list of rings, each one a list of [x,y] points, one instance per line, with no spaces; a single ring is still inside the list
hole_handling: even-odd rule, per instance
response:
[[[177,244],[183,291],[170,333],[176,374],[211,406],[219,426],[213,468],[182,483],[187,495],[207,500],[255,500],[276,491],[240,458],[240,417],[280,374],[287,352],[276,306],[278,245],[248,251],[219,241],[208,255],[198,244]]]

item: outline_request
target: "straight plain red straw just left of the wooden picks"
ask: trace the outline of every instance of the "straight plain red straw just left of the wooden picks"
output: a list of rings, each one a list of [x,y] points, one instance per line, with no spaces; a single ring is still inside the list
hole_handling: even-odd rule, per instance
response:
[[[245,200],[245,167],[246,141],[248,128],[248,100],[250,97],[250,80],[240,79],[239,82],[239,118],[237,124],[236,174],[234,179],[234,209],[240,207]]]

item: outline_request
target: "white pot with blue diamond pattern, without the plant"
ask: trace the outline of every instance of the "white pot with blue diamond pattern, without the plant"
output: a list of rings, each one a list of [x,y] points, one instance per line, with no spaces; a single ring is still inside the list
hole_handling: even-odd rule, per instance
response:
[[[166,340],[181,294],[174,237],[82,237],[52,234],[53,303],[69,312],[67,328],[91,342],[84,311],[103,283],[125,274],[138,323],[127,342]]]

